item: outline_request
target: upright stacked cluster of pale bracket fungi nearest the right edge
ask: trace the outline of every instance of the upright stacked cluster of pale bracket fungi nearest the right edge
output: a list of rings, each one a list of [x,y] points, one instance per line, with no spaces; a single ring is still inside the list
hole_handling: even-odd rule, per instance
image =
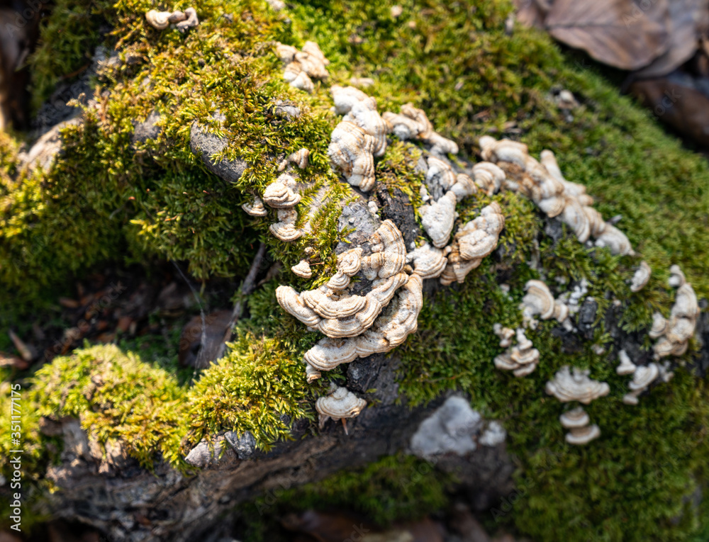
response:
[[[652,346],[655,359],[684,354],[699,317],[697,295],[691,284],[686,281],[684,273],[676,265],[670,268],[670,273],[669,284],[677,288],[677,293],[669,320],[655,312],[649,332],[650,338],[657,339]]]

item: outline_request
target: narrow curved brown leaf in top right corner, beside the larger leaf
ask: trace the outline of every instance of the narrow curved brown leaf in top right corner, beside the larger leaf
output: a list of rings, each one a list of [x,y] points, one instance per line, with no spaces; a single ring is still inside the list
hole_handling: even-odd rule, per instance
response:
[[[708,10],[707,0],[672,0],[669,3],[669,48],[635,75],[659,77],[674,72],[687,62],[697,50],[699,33],[706,26]]]

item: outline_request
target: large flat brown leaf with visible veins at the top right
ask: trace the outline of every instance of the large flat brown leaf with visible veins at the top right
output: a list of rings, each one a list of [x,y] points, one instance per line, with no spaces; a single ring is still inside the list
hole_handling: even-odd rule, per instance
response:
[[[643,11],[630,0],[556,0],[545,26],[554,38],[599,62],[640,69],[669,47],[666,0],[647,4]]]

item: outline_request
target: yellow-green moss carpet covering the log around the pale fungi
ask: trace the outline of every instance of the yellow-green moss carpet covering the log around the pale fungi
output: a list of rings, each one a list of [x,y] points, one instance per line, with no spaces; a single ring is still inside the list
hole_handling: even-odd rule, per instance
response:
[[[281,274],[279,281],[319,286],[347,234],[338,230],[342,207],[357,198],[328,163],[330,132],[339,119],[330,112],[327,86],[371,76],[376,82],[367,92],[380,111],[396,111],[407,101],[423,108],[438,131],[461,144],[459,159],[474,157],[486,133],[523,140],[535,155],[553,149],[566,178],[586,185],[605,217],[622,215],[619,227],[654,270],[649,285],[631,293],[627,281],[638,259],[587,249],[565,230],[560,239],[550,238],[549,223],[522,196],[469,198],[458,209],[462,222],[491,200],[501,204],[506,230],[500,248],[463,286],[427,298],[418,333],[397,354],[401,398],[420,405],[448,390],[463,391],[474,407],[506,425],[519,466],[518,498],[494,508],[491,521],[515,524],[540,540],[686,539],[698,529],[700,512],[689,497],[705,484],[709,453],[703,432],[708,390],[688,370],[700,344],[693,341],[680,360],[686,368],[637,407],[620,402],[625,380],[615,374],[614,359],[627,337],[649,346],[643,337],[652,312],[666,313],[671,305],[669,264],[681,265],[700,298],[709,295],[708,164],[544,35],[518,27],[506,33],[507,2],[404,1],[398,17],[390,4],[312,1],[274,13],[262,1],[208,1],[198,6],[201,24],[186,34],[148,27],[143,14],[155,6],[146,1],[83,9],[57,4],[30,62],[35,105],[57,77],[81,67],[99,41],[115,55],[99,59],[96,92],[77,103],[80,122],[62,130],[62,152],[48,171],[23,162],[22,135],[0,135],[2,321],[15,324],[69,278],[106,261],[146,267],[181,261],[205,284],[245,276],[259,240],[285,269],[313,248],[313,278]],[[113,30],[99,37],[103,23]],[[286,85],[274,54],[276,41],[302,45],[308,39],[331,62],[328,83],[311,95]],[[581,103],[571,120],[552,99],[562,87]],[[300,114],[284,114],[283,103]],[[225,145],[201,157],[194,152],[195,130]],[[310,149],[311,160],[299,172],[307,187],[299,209],[316,208],[323,191],[330,199],[310,217],[301,213],[299,225],[309,220],[311,233],[286,244],[240,205],[262,193],[281,159],[301,147]],[[392,141],[376,164],[378,190],[418,207],[420,152]],[[225,181],[203,158],[245,169]],[[523,287],[538,276],[532,258],[548,281],[557,279],[559,291],[586,279],[598,311],[582,339],[542,322],[533,337],[540,366],[517,379],[494,368],[501,349],[491,329],[494,322],[520,322]],[[498,288],[503,281],[509,296]],[[203,438],[250,431],[269,448],[289,438],[296,419],[312,420],[313,396],[325,388],[306,384],[301,358],[316,337],[281,311],[274,286],[249,296],[250,315],[227,356],[194,383],[180,384],[165,368],[115,347],[56,358],[23,380],[31,390],[22,431],[32,478],[41,482],[43,469],[58,457],[56,439],[39,432],[40,416],[77,417],[91,439],[121,441],[145,467],[164,459],[183,471],[184,452]],[[598,354],[599,347],[608,354]],[[588,407],[603,437],[587,448],[564,444],[562,407],[543,393],[545,381],[565,364],[590,368],[593,378],[611,386],[607,400]],[[344,368],[333,378],[347,378]],[[11,393],[6,385],[1,391],[5,398]],[[3,457],[6,446],[0,442]],[[381,473],[389,469],[406,476],[411,461],[398,467],[386,458],[357,476],[338,475],[320,488],[294,492],[294,499],[309,495],[307,502],[319,502],[330,498],[330,487],[367,484],[376,493],[372,488],[386,487],[389,475]],[[439,506],[441,492],[422,502]],[[372,508],[367,496],[341,502]],[[377,519],[424,507],[403,509],[386,507]]]

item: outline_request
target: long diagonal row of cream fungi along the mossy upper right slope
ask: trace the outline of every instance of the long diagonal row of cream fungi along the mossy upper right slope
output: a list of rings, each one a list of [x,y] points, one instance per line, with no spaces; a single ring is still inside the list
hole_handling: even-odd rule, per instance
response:
[[[538,162],[527,145],[489,135],[480,138],[480,147],[483,159],[496,163],[511,179],[506,181],[508,189],[525,194],[549,218],[559,218],[580,242],[593,237],[597,247],[608,247],[613,254],[635,254],[625,234],[591,207],[593,198],[586,187],[564,179],[553,152],[542,151]]]

